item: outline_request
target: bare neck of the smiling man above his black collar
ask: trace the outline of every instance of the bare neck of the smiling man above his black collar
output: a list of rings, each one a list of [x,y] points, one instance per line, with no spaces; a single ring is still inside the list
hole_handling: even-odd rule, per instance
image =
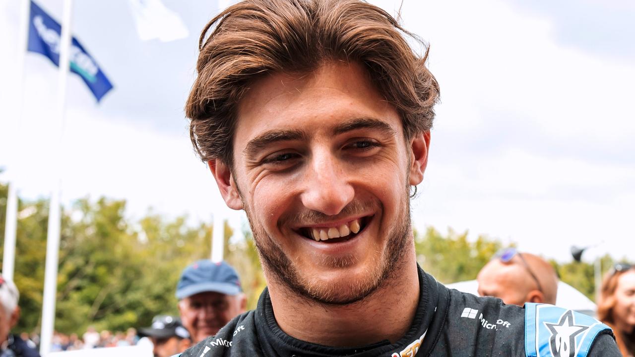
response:
[[[270,283],[269,295],[277,324],[296,339],[324,346],[396,342],[411,325],[420,292],[414,247],[403,258],[401,269],[376,292],[350,306],[309,302],[281,285]]]

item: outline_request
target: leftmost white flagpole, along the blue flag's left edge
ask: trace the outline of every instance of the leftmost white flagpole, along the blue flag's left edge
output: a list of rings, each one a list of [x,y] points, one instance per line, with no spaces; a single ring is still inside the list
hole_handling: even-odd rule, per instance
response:
[[[22,131],[23,100],[24,100],[24,62],[27,54],[27,37],[29,36],[30,0],[22,0],[20,9],[20,37],[18,37],[18,98],[15,101],[18,117],[17,135]],[[2,275],[13,281],[15,271],[15,239],[18,231],[18,187],[16,185],[18,160],[13,159],[9,170],[13,171],[9,180],[9,192],[6,198],[6,220],[4,220],[4,252],[2,259]]]

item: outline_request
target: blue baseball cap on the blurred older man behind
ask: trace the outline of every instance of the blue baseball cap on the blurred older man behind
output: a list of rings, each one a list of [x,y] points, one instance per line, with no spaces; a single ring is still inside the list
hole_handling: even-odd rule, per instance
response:
[[[177,284],[177,299],[202,292],[237,295],[241,292],[238,274],[225,262],[198,260],[186,267]]]

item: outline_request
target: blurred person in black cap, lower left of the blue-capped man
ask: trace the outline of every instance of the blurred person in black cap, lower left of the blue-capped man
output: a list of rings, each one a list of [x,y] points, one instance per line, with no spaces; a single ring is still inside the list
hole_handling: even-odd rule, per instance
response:
[[[182,353],[192,344],[190,333],[174,316],[154,316],[152,326],[140,328],[139,335],[152,340],[154,357],[170,357]]]

